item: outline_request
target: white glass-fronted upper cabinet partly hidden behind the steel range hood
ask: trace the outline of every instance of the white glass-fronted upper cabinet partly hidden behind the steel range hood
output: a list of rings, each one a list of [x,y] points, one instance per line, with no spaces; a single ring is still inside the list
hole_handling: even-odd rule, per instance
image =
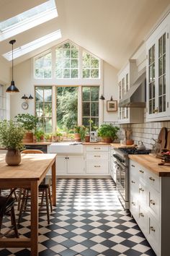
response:
[[[138,67],[135,59],[129,60],[128,64],[118,74],[119,101],[124,97],[130,86],[133,85],[138,77]],[[118,108],[118,123],[133,124],[143,122],[143,108]]]

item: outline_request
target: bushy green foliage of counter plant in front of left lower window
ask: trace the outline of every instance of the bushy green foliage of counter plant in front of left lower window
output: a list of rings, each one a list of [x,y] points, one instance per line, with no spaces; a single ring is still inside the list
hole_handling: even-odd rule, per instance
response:
[[[37,124],[38,124],[37,116],[33,116],[27,113],[27,114],[17,114],[15,118],[17,119],[17,122],[21,124],[22,127],[24,127],[24,129],[27,132],[32,132],[37,127]]]

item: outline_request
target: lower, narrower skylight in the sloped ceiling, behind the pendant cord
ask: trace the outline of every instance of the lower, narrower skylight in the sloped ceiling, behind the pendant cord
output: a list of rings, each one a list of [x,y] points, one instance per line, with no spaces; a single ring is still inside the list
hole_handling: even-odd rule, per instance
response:
[[[34,51],[37,48],[40,48],[41,46],[45,46],[45,44],[51,43],[54,40],[58,40],[61,38],[61,30],[56,30],[53,33],[50,33],[48,35],[42,36],[42,38],[38,38],[36,40],[33,40],[30,43],[24,44],[24,46],[20,46],[19,48],[14,49],[13,51],[13,59],[18,58],[19,56],[22,56],[24,54],[30,53],[30,51]],[[9,51],[6,54],[3,54],[4,58],[6,58],[8,61],[12,60],[12,51]]]

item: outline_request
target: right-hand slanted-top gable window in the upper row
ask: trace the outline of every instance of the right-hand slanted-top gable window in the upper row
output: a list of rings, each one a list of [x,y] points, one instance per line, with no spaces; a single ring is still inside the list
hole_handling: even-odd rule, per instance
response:
[[[99,59],[83,51],[83,78],[99,78]]]

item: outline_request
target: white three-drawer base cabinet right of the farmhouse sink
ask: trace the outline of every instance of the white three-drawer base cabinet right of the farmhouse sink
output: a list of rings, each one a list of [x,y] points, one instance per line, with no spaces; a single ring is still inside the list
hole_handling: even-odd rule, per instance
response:
[[[86,145],[86,174],[109,175],[109,145]]]

